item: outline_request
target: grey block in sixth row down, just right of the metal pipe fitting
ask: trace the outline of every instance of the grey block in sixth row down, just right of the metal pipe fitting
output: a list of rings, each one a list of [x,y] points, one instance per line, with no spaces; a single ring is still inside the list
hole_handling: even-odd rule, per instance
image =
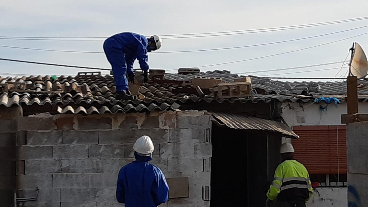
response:
[[[96,202],[95,188],[62,188],[60,189],[61,202],[84,203],[86,201]]]

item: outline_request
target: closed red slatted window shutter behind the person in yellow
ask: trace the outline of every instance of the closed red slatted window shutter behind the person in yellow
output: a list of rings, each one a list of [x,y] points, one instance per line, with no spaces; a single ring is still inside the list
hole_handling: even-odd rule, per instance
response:
[[[310,174],[347,173],[346,126],[293,126],[293,131],[300,136],[292,141],[294,158]]]

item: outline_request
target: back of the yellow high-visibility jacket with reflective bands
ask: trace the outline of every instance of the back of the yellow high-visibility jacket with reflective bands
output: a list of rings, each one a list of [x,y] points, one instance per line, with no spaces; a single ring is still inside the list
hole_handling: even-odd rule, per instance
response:
[[[300,162],[289,159],[277,166],[282,172],[281,192],[278,200],[307,200],[309,198],[310,180],[307,169]]]

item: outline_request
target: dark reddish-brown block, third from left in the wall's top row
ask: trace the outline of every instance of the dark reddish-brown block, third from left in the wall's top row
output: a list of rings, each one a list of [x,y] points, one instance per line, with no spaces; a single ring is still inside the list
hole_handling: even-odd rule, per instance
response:
[[[112,120],[110,117],[101,116],[83,116],[77,117],[78,127],[77,129],[111,129]]]

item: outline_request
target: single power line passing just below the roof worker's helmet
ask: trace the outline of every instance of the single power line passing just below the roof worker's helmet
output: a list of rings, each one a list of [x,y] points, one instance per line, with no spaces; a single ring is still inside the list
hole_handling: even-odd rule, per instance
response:
[[[201,49],[201,50],[182,50],[182,51],[153,52],[152,54],[155,54],[155,53],[202,52],[202,51],[226,50],[226,49],[238,49],[238,48],[248,48],[248,47],[255,47],[255,46],[272,45],[272,44],[277,44],[277,43],[292,42],[292,41],[298,41],[298,40],[303,40],[303,39],[310,39],[310,38],[316,38],[316,37],[321,37],[321,36],[326,36],[326,35],[332,35],[332,34],[337,34],[337,33],[341,33],[341,32],[347,32],[347,31],[351,31],[351,30],[355,30],[355,29],[361,29],[361,28],[365,28],[365,27],[368,27],[368,25],[367,25],[367,26],[362,26],[362,27],[357,27],[357,28],[352,28],[352,29],[346,29],[346,30],[342,30],[342,31],[337,31],[337,32],[331,32],[331,33],[322,34],[322,35],[315,35],[315,36],[309,36],[309,37],[297,38],[297,39],[290,39],[290,40],[284,40],[284,41],[278,41],[278,42],[261,43],[261,44],[256,44],[256,45],[245,45],[245,46],[236,46],[236,47],[229,47],[229,48],[216,48],[216,49]],[[16,47],[16,46],[8,46],[8,45],[0,45],[0,47],[3,47],[3,48],[14,48],[14,49],[28,49],[28,50],[52,51],[52,52],[70,52],[70,53],[104,53],[104,52],[93,52],[93,51],[75,51],[75,50],[53,50],[53,49],[25,48],[25,47]]]

